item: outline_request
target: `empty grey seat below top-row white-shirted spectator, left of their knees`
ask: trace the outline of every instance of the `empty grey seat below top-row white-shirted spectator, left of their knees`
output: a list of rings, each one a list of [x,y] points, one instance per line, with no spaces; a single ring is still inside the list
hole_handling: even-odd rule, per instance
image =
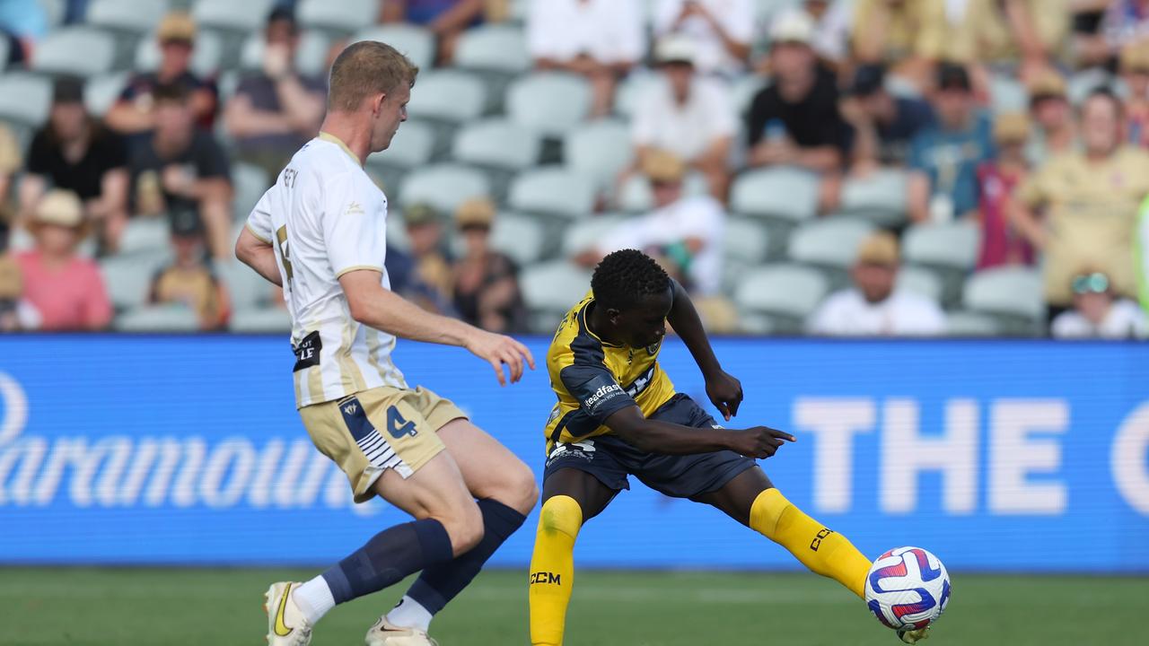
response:
[[[573,74],[535,72],[507,90],[507,116],[546,136],[561,137],[589,113],[591,86]]]

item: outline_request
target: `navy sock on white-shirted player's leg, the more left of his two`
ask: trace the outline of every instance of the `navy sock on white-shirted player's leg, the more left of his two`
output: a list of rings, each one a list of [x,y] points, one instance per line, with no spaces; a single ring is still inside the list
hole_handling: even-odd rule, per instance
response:
[[[439,521],[403,523],[384,530],[323,572],[336,603],[378,592],[422,569],[446,563],[454,552]]]

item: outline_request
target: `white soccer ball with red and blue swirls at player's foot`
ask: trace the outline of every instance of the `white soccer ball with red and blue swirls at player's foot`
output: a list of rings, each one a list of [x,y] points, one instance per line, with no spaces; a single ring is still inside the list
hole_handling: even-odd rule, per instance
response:
[[[865,602],[878,621],[894,630],[917,630],[936,621],[949,603],[949,574],[920,547],[897,547],[870,567]]]

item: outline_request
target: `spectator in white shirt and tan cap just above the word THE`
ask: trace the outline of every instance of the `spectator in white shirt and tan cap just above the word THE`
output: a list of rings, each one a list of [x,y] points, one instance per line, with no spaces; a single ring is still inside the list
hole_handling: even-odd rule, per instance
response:
[[[831,294],[815,312],[809,331],[842,337],[932,336],[946,329],[946,315],[933,301],[895,291],[897,239],[874,233],[858,248],[854,289]]]

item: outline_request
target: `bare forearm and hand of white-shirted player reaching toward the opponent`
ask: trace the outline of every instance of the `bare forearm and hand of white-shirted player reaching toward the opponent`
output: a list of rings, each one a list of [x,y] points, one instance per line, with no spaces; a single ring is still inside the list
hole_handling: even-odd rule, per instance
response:
[[[507,384],[503,364],[510,369],[511,383],[522,378],[524,362],[534,370],[531,351],[517,340],[432,314],[384,289],[380,278],[375,269],[356,269],[339,277],[355,321],[414,341],[465,347],[495,369],[501,385]]]

